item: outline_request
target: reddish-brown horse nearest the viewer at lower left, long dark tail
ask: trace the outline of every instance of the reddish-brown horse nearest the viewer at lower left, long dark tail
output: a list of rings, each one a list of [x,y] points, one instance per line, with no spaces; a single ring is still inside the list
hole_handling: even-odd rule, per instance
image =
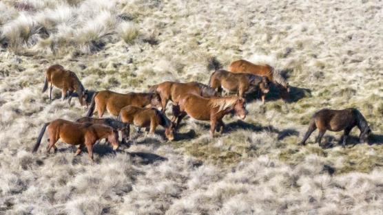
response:
[[[47,146],[47,154],[50,153],[51,148],[54,148],[54,152],[57,151],[55,144],[59,139],[67,144],[79,145],[75,156],[79,155],[86,146],[92,163],[93,145],[97,142],[97,140],[107,138],[108,142],[112,144],[113,150],[118,148],[118,131],[114,130],[110,126],[89,123],[83,124],[59,119],[44,124],[32,152],[36,152],[37,149],[39,149],[41,139],[45,133],[45,128],[47,128],[48,125],[49,145]]]

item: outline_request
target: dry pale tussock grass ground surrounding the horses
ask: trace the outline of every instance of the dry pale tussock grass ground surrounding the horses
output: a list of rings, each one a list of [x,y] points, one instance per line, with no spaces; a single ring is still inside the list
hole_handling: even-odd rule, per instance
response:
[[[382,214],[383,25],[380,1],[1,1],[0,214]],[[45,70],[59,63],[85,88],[147,91],[165,80],[207,83],[215,65],[245,58],[284,71],[292,102],[250,98],[246,120],[183,121],[136,135],[116,155],[44,140],[44,122],[85,113],[49,102]],[[346,148],[298,146],[315,111],[358,108],[371,124]],[[168,106],[169,109],[169,106]],[[168,115],[170,113],[167,113]]]

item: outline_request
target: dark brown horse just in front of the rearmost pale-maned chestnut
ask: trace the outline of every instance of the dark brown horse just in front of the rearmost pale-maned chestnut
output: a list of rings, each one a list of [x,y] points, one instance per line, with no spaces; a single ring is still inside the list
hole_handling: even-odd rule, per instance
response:
[[[243,98],[247,92],[259,89],[262,93],[263,103],[265,103],[266,94],[269,93],[269,80],[265,76],[231,73],[224,69],[218,69],[211,73],[209,84],[211,88],[218,89],[218,92],[222,89],[228,92],[238,92],[240,98]]]

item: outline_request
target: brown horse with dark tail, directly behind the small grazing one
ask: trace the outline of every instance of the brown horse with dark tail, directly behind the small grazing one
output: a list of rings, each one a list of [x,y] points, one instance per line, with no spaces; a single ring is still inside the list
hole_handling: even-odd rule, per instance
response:
[[[93,115],[96,108],[99,117],[103,117],[105,110],[110,114],[118,116],[124,106],[152,106],[161,109],[161,97],[157,93],[115,93],[113,91],[99,91],[94,93],[90,108],[86,116]]]

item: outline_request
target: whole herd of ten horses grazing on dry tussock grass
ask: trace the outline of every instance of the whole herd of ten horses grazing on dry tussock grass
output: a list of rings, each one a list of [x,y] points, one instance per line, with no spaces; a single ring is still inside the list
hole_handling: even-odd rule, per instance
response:
[[[154,133],[158,125],[165,128],[165,137],[174,140],[180,122],[188,115],[195,120],[210,122],[210,135],[214,137],[215,131],[222,133],[225,128],[223,117],[229,113],[235,114],[245,120],[246,93],[254,93],[265,103],[265,97],[273,84],[280,91],[282,98],[288,98],[290,87],[287,80],[269,65],[255,65],[247,60],[236,60],[229,65],[229,71],[218,69],[211,73],[209,84],[200,82],[170,82],[165,81],[149,87],[147,93],[116,93],[114,91],[87,91],[73,71],[64,69],[61,65],[52,65],[45,73],[43,92],[48,87],[49,98],[52,100],[53,86],[61,89],[62,100],[72,97],[79,98],[82,106],[87,106],[85,117],[71,122],[68,120],[53,120],[43,125],[37,143],[33,148],[36,152],[41,144],[41,139],[48,127],[47,153],[51,148],[56,152],[56,142],[61,141],[76,145],[75,155],[79,155],[86,147],[89,157],[93,162],[93,146],[101,139],[109,142],[114,150],[121,144],[130,146],[130,125],[141,131],[146,128],[149,133]],[[49,86],[48,86],[49,85]],[[222,95],[223,93],[223,95]],[[228,95],[236,93],[236,95]],[[165,114],[167,103],[172,101],[172,119]],[[115,118],[103,118],[107,111]],[[94,113],[97,117],[92,117]],[[318,128],[319,134],[315,143],[321,144],[324,133],[329,131],[344,131],[344,147],[346,139],[355,126],[360,129],[360,142],[366,142],[371,133],[366,119],[357,109],[331,110],[322,109],[316,112],[309,124],[309,129],[304,135],[304,145],[311,133]]]

